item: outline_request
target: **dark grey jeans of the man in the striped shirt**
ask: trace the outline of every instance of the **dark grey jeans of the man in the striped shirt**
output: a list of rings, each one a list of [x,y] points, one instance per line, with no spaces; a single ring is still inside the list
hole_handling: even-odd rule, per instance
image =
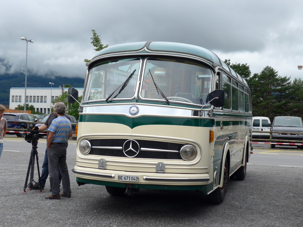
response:
[[[62,188],[65,195],[71,194],[71,184],[69,180],[68,168],[66,164],[66,144],[55,143],[47,150],[49,183],[52,195],[60,194],[58,167],[62,175]]]

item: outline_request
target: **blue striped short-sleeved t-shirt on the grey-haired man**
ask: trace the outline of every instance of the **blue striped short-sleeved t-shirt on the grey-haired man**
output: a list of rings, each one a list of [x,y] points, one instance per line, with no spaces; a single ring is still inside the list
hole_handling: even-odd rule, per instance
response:
[[[52,121],[48,130],[54,133],[53,143],[66,143],[72,132],[72,123],[66,117],[59,116]]]

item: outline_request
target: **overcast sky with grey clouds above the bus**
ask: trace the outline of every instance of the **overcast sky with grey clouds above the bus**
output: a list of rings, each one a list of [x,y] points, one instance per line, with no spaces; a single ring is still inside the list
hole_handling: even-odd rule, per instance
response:
[[[222,60],[247,63],[251,73],[267,65],[280,76],[303,79],[303,1],[267,0],[53,0],[2,1],[0,74],[28,71],[84,77],[84,59],[96,52],[92,29],[110,46],[172,41],[213,51]],[[1,76],[1,75],[0,75]]]

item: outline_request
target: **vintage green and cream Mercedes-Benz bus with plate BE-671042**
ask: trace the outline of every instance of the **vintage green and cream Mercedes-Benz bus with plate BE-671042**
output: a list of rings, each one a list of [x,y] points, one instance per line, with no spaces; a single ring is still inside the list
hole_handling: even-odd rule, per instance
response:
[[[203,192],[221,203],[251,154],[247,82],[213,52],[173,42],[119,44],[87,64],[79,107],[78,185],[111,195]],[[69,102],[77,99],[69,89]]]

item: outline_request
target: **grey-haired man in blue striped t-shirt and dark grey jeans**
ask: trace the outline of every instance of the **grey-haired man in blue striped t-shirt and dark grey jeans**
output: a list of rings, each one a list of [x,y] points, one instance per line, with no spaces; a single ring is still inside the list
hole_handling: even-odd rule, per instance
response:
[[[45,196],[45,199],[60,199],[71,197],[71,185],[68,168],[66,164],[66,143],[72,136],[72,123],[64,116],[66,112],[65,104],[55,103],[54,113],[57,115],[50,127],[47,137],[48,172],[52,195]],[[63,193],[60,194],[58,178],[58,167],[62,175]]]

